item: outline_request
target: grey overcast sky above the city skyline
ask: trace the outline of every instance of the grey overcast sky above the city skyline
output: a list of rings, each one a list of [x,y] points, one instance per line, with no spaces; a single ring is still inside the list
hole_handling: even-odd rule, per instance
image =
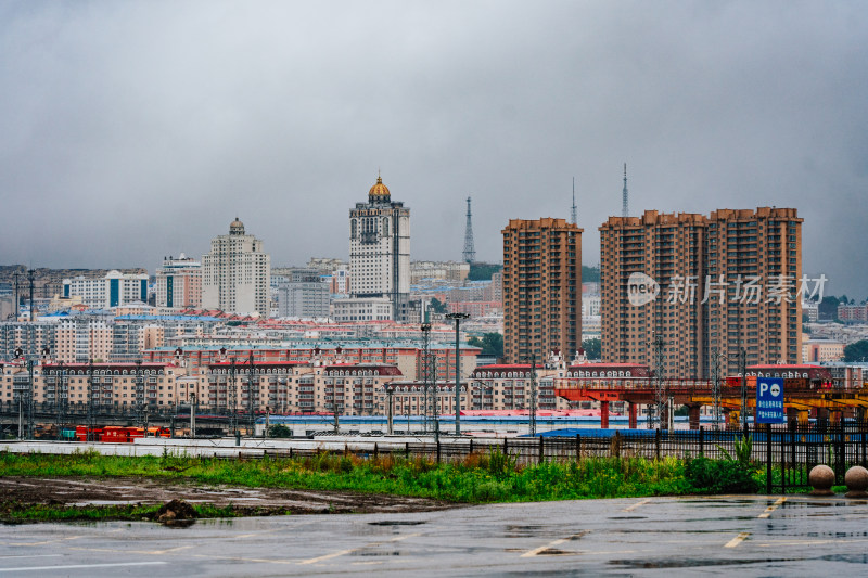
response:
[[[864,2],[0,1],[0,264],[347,258],[378,169],[412,259],[570,217],[796,207],[804,264],[868,295]]]

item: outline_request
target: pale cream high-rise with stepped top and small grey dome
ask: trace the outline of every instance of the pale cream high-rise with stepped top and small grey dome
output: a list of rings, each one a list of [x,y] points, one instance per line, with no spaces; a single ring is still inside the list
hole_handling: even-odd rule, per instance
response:
[[[202,256],[202,307],[233,313],[270,311],[271,258],[263,242],[245,234],[244,223],[235,219],[228,235],[210,242],[210,253]]]

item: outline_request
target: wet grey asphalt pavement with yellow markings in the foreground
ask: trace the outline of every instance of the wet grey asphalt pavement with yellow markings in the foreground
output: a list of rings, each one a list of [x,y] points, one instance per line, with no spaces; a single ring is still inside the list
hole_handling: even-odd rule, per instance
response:
[[[713,497],[0,526],[0,576],[868,574],[868,502]]]

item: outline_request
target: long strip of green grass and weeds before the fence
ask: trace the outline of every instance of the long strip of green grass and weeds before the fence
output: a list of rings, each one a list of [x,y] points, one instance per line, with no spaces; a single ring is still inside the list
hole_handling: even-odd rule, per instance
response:
[[[685,476],[685,465],[674,458],[587,458],[522,466],[497,450],[441,464],[421,458],[383,455],[362,460],[328,452],[256,461],[173,454],[131,458],[92,451],[69,455],[0,453],[0,471],[10,476],[140,476],[202,485],[348,490],[468,503],[691,493],[695,488]]]

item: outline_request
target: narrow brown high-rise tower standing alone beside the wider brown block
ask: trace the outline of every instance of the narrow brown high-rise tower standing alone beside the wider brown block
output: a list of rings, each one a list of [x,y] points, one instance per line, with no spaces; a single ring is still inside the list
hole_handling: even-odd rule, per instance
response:
[[[582,229],[510,219],[503,233],[503,355],[509,363],[582,346]]]

